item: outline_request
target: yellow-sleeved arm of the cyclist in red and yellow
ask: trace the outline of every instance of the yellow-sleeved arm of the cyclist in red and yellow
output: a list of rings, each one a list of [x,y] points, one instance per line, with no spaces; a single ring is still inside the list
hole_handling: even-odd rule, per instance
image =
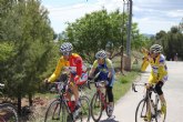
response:
[[[61,70],[63,68],[63,58],[60,58],[58,61],[58,64],[55,67],[54,72],[52,73],[52,75],[48,79],[49,82],[53,82],[58,79],[59,74],[61,73]]]

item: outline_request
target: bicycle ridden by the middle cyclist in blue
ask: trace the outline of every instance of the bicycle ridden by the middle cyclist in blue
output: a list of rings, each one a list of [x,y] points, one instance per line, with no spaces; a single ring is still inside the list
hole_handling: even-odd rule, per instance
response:
[[[99,74],[100,72],[95,74],[94,79],[96,79]],[[94,83],[96,88],[96,92],[93,94],[91,100],[91,116],[93,121],[99,122],[102,116],[102,112],[104,110],[106,112],[106,115],[109,118],[111,116],[111,114],[109,114],[110,103],[108,102],[106,90],[105,90],[106,81],[94,82],[93,80],[93,82],[90,81],[90,83]],[[113,109],[114,109],[114,104],[113,104]]]

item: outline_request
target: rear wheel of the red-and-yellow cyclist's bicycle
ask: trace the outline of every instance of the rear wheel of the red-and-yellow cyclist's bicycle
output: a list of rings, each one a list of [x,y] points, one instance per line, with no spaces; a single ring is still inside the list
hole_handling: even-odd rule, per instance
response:
[[[81,113],[80,113],[80,120],[81,122],[89,122],[90,121],[90,102],[89,98],[83,95],[80,98],[81,102]]]

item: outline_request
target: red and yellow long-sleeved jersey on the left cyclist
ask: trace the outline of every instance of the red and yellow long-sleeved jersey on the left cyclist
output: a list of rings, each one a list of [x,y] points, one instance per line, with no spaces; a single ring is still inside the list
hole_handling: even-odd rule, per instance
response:
[[[83,68],[83,62],[82,62],[82,58],[79,54],[72,53],[69,60],[64,60],[64,58],[61,57],[58,61],[54,72],[49,78],[49,81],[50,82],[55,81],[60,77],[60,73],[61,71],[63,71],[63,69],[69,69],[72,78],[79,75],[80,80],[83,80],[84,78],[84,80],[87,81],[88,75],[85,75],[87,73],[85,71],[82,70],[82,68]]]

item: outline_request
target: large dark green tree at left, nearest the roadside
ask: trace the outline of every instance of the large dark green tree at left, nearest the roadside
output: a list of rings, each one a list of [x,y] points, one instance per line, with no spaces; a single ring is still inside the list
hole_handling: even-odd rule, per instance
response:
[[[18,98],[20,110],[21,98],[29,95],[31,100],[38,90],[38,81],[48,70],[48,63],[57,57],[52,50],[55,47],[53,30],[48,11],[40,6],[39,0],[11,4],[2,17],[0,40],[12,44],[14,54],[1,63],[4,70],[1,79],[7,85],[6,93]]]

